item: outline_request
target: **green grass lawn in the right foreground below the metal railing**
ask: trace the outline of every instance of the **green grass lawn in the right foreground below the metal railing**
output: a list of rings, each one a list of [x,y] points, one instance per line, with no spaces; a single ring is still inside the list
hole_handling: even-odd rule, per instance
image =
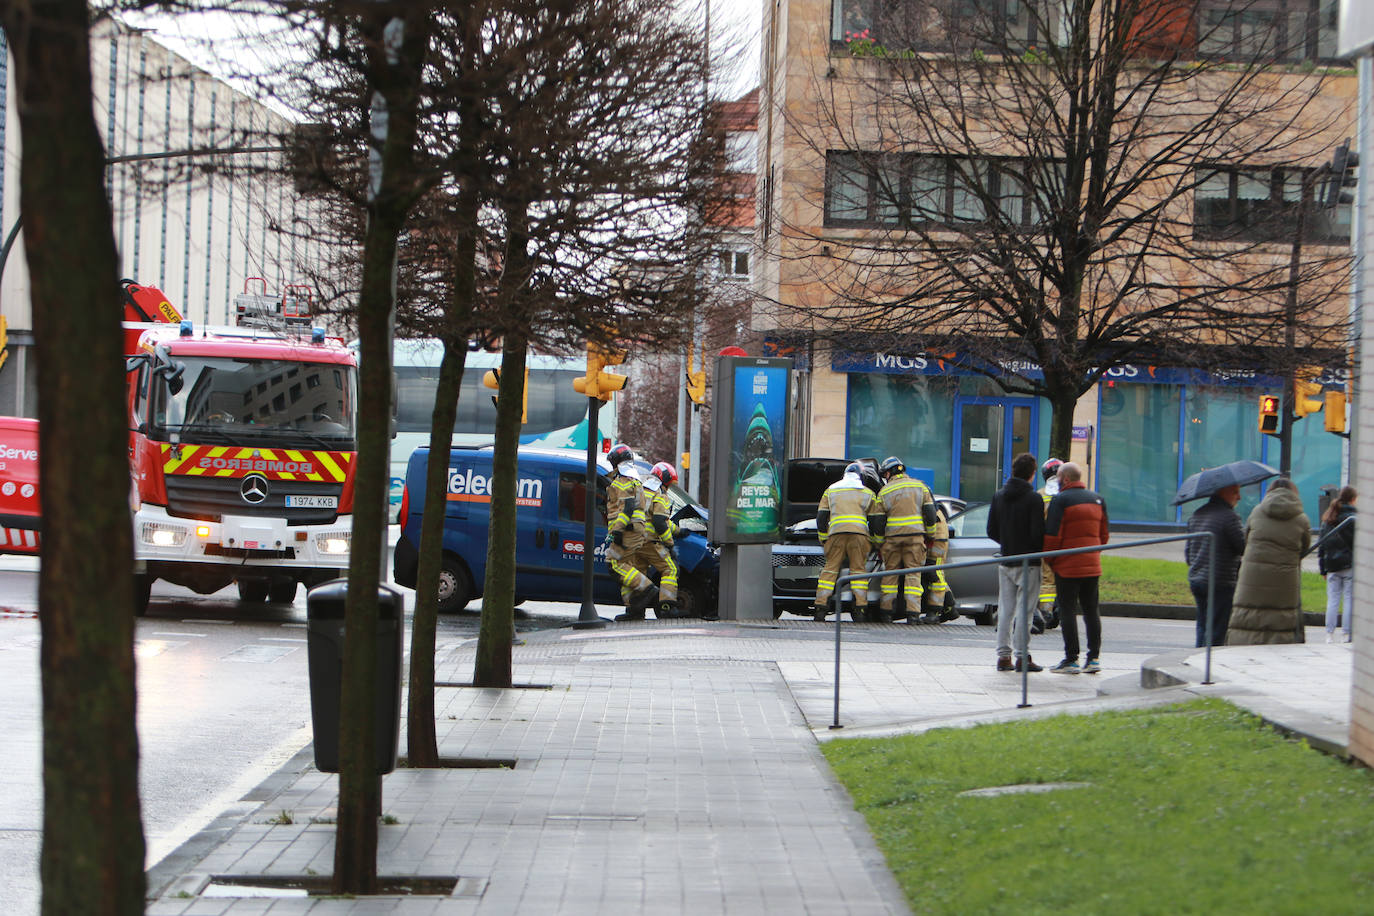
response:
[[[1374,906],[1374,775],[1221,700],[824,753],[916,913]],[[960,797],[1061,781],[1088,786]]]

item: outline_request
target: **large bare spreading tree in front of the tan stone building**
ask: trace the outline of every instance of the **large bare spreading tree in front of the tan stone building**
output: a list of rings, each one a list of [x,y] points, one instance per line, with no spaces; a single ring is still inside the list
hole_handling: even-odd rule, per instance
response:
[[[1309,357],[1341,346],[1348,258],[1311,205],[1351,111],[1301,63],[1315,27],[1237,47],[1193,0],[841,1],[844,45],[790,122],[824,209],[780,251],[826,295],[780,297],[782,324],[958,349],[1050,400],[1055,455],[1113,367],[1290,365],[1287,328]]]

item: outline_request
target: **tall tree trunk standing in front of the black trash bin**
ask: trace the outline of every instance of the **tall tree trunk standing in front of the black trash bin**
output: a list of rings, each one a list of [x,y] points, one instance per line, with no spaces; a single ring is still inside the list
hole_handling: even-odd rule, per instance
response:
[[[404,26],[404,30],[396,36],[394,29],[398,26]],[[378,10],[364,15],[359,27],[371,48],[368,84],[374,87],[374,111],[382,117],[372,121],[372,155],[379,161],[374,161],[357,305],[361,368],[344,684],[339,699],[335,894],[376,893],[376,829],[382,808],[374,705],[376,595],[387,514],[396,239],[416,199],[414,150],[418,88],[429,45],[430,21],[425,10],[412,11],[404,21]],[[383,56],[393,54],[393,59]]]

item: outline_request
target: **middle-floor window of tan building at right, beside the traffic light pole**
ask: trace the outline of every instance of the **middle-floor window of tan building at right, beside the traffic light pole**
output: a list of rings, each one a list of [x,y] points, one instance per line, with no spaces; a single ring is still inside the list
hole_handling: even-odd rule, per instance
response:
[[[1297,206],[1308,177],[1304,169],[1212,170],[1193,194],[1193,233],[1200,239],[1289,242],[1297,231]],[[1349,240],[1351,205],[1319,206],[1319,181],[1311,194],[1304,239]]]

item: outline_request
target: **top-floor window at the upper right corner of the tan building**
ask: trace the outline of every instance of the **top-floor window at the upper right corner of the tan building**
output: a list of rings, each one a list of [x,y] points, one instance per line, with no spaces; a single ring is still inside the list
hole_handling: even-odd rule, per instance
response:
[[[1198,54],[1241,60],[1334,59],[1340,0],[1202,0]]]

